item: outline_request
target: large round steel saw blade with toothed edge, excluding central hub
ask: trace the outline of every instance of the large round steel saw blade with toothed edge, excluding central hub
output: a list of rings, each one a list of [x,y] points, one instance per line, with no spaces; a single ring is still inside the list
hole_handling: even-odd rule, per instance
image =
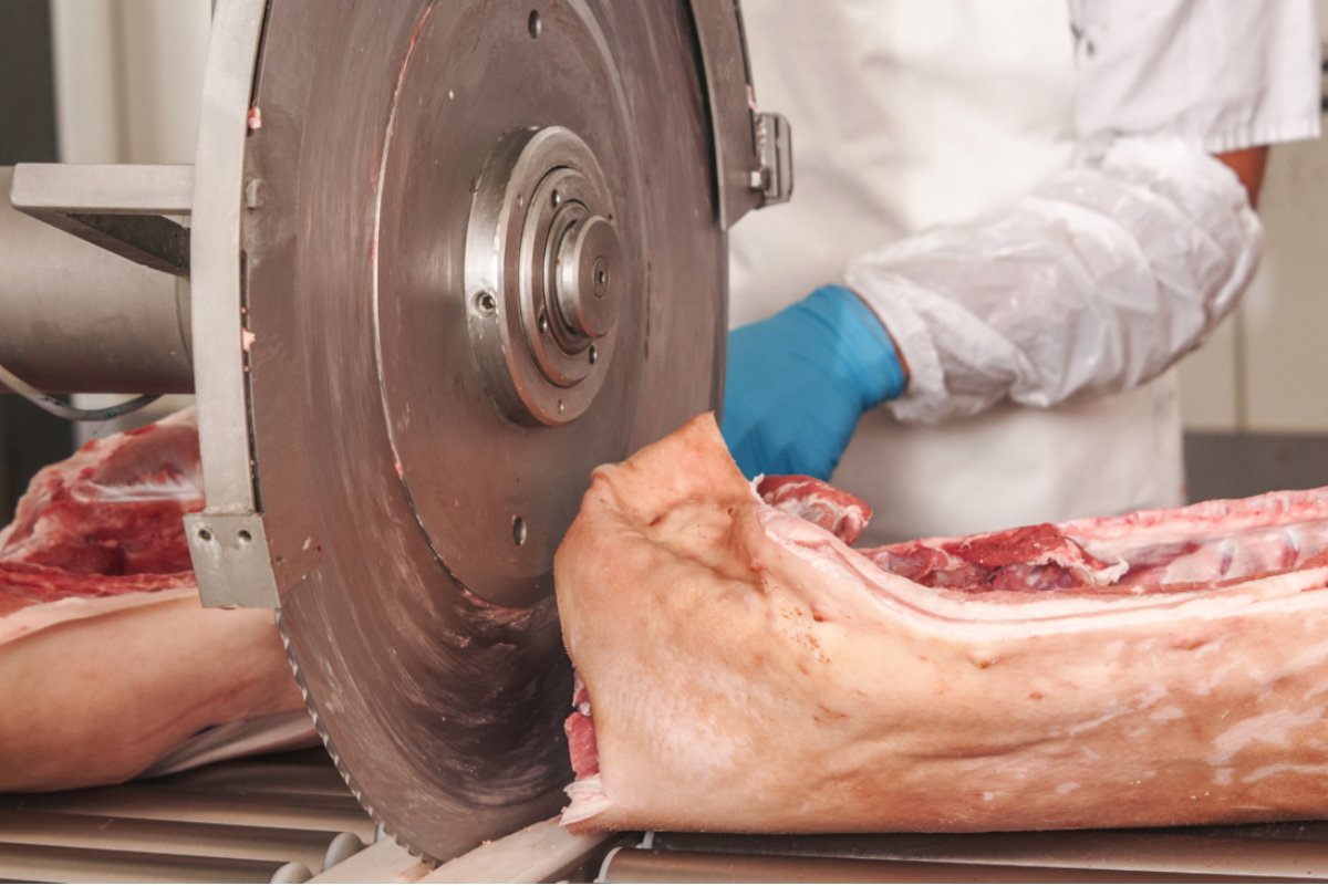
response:
[[[280,626],[352,789],[426,857],[563,804],[554,549],[596,464],[716,402],[725,239],[697,64],[683,1],[270,5],[242,247]],[[467,334],[471,204],[522,127],[592,153],[586,192],[612,210],[582,215],[615,225],[625,281],[612,361],[558,426],[495,406]]]

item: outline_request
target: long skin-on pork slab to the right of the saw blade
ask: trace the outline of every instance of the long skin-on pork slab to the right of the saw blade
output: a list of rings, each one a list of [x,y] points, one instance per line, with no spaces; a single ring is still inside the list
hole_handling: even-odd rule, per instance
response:
[[[861,552],[819,521],[709,416],[596,471],[555,560],[567,825],[1328,814],[1328,491]]]

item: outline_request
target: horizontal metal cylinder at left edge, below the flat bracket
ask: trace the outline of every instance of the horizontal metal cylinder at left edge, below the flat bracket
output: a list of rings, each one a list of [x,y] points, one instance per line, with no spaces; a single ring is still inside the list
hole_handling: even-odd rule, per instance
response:
[[[189,283],[19,212],[12,174],[0,166],[0,365],[50,394],[193,393]]]

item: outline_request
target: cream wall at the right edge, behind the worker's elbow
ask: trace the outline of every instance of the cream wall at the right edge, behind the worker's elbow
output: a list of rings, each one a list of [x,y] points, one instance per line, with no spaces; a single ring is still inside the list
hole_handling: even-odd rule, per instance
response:
[[[1319,0],[1328,40],[1328,0]],[[1328,434],[1328,138],[1272,149],[1267,244],[1235,317],[1181,365],[1191,430]]]

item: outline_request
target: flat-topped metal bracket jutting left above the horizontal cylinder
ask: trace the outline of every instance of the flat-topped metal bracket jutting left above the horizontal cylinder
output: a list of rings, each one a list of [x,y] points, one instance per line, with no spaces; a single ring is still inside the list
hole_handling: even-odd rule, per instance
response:
[[[20,163],[9,199],[16,210],[130,261],[189,276],[187,218],[193,166]]]

